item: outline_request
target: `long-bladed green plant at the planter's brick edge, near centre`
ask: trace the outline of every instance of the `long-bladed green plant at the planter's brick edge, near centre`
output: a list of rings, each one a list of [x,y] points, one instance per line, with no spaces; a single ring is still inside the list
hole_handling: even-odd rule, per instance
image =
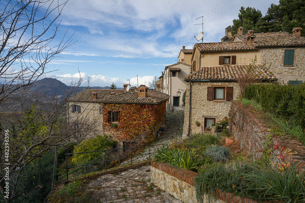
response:
[[[187,170],[194,170],[198,164],[196,156],[192,156],[192,152],[189,152],[187,149],[181,150],[176,148],[164,147],[158,149],[155,160],[156,163],[170,163]]]

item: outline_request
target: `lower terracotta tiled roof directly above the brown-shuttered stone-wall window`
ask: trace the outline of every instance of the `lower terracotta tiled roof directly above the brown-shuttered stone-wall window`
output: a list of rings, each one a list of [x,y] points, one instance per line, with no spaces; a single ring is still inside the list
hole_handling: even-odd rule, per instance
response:
[[[232,65],[232,66],[216,66],[201,67],[198,71],[185,77],[185,80],[236,80],[243,73],[247,74],[249,69],[258,76],[258,79],[277,79],[263,65]]]

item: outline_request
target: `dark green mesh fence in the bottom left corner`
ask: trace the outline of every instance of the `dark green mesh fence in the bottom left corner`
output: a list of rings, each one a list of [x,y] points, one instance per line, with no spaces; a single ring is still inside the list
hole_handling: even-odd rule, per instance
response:
[[[33,163],[9,173],[9,199],[0,196],[0,202],[38,203],[44,202],[56,182],[56,151],[36,159]]]

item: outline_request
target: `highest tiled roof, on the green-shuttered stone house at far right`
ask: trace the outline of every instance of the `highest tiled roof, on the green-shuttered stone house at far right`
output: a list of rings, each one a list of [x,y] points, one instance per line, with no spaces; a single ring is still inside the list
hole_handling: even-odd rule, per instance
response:
[[[255,35],[253,46],[289,46],[304,45],[305,37],[293,37],[288,32],[253,33]],[[233,40],[238,38],[246,42],[247,34],[235,34]]]

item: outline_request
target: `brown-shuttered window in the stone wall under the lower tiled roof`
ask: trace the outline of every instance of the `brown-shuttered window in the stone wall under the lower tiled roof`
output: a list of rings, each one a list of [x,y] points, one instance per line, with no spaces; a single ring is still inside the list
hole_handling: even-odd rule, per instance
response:
[[[233,100],[233,87],[208,87],[207,100]]]

